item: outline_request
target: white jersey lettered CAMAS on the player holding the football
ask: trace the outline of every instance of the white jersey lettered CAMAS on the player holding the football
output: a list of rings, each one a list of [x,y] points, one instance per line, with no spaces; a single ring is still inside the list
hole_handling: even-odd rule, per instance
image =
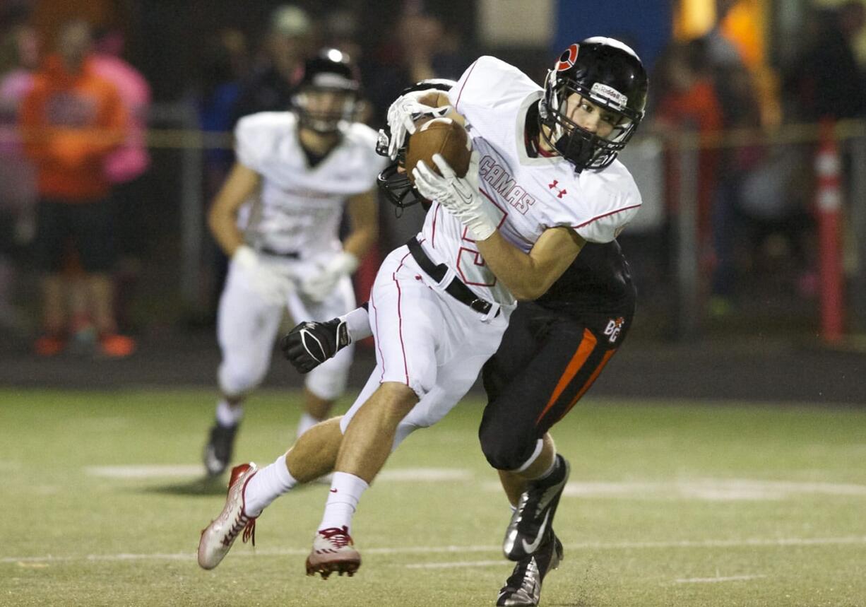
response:
[[[559,156],[530,158],[527,111],[542,94],[526,74],[490,56],[470,65],[449,91],[481,156],[481,195],[501,211],[502,236],[524,252],[542,232],[557,226],[569,226],[589,242],[611,242],[641,205],[637,185],[617,160],[602,171],[576,173]],[[454,268],[475,293],[514,303],[462,223],[440,205],[428,211],[419,240],[431,259]]]

